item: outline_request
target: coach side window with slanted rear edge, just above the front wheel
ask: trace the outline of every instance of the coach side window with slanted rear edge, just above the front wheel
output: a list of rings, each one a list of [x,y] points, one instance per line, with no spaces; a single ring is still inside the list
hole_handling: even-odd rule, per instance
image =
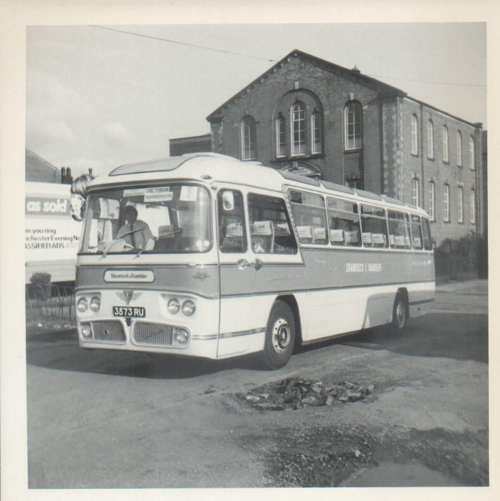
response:
[[[248,194],[252,250],[256,254],[295,254],[297,244],[285,208],[285,200]]]

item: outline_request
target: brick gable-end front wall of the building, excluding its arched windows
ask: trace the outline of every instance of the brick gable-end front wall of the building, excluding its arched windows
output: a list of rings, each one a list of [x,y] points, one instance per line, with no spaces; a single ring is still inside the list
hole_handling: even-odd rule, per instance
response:
[[[288,63],[261,78],[221,110],[222,121],[212,123],[215,148],[219,153],[241,158],[240,124],[243,116],[252,115],[257,123],[257,160],[265,165],[281,167],[293,160],[315,165],[323,178],[343,183],[344,170],[359,163],[364,171],[365,189],[379,192],[382,186],[380,105],[377,91],[356,82],[352,77],[337,75],[325,65],[313,65],[300,57],[290,57]],[[362,151],[344,152],[344,108],[349,100],[363,108]],[[299,100],[306,105],[308,152],[305,156],[290,156],[290,109]],[[323,116],[323,152],[312,154],[310,116],[314,109]],[[279,113],[287,121],[287,155],[276,157],[275,120]],[[221,126],[223,134],[220,134]],[[221,137],[221,142],[220,142]]]

